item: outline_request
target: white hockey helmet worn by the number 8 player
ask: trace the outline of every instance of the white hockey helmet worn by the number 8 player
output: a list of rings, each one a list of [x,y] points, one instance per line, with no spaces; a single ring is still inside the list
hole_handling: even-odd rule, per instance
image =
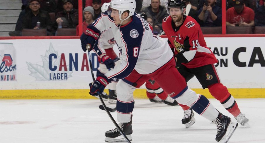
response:
[[[111,15],[112,12],[111,8],[118,10],[120,17],[124,11],[130,11],[129,16],[127,17],[129,18],[130,16],[134,15],[136,3],[135,0],[111,0],[111,5],[108,8],[108,15]],[[125,19],[120,18],[120,20],[125,20]]]

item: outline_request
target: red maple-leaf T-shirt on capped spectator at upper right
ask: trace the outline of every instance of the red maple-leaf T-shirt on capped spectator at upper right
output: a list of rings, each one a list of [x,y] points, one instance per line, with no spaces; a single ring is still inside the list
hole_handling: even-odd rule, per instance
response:
[[[226,22],[231,24],[240,24],[241,22],[250,23],[254,20],[254,16],[255,13],[253,9],[247,6],[244,6],[244,9],[240,14],[235,11],[235,7],[232,7],[226,11]]]

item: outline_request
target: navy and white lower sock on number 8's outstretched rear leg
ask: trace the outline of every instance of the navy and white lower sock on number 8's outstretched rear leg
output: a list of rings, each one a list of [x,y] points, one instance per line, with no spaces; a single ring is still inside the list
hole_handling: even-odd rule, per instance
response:
[[[219,114],[219,112],[213,107],[210,101],[203,95],[200,95],[200,98],[191,107],[191,109],[210,121],[214,121]]]

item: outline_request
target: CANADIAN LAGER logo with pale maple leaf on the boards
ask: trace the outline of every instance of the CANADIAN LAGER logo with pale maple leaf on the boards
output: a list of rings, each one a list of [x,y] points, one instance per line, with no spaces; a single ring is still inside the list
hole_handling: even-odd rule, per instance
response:
[[[67,56],[69,56],[69,60],[66,60]],[[62,53],[59,55],[58,51],[55,51],[52,43],[50,43],[50,48],[46,50],[45,56],[41,56],[43,61],[42,66],[27,62],[28,69],[31,72],[30,76],[35,77],[36,81],[67,80],[72,77],[73,71],[89,71],[87,54],[84,53],[82,56],[82,61],[78,61],[78,53]],[[96,56],[96,54],[93,53],[93,56]],[[81,63],[81,67],[78,66],[78,63]],[[92,63],[94,64],[93,61]],[[93,70],[96,70],[96,68],[93,68]]]

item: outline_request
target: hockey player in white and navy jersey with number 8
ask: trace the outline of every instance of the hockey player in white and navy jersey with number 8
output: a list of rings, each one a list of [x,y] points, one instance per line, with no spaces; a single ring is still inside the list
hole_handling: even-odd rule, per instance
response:
[[[218,112],[205,96],[188,88],[175,68],[167,41],[153,35],[148,23],[134,13],[135,7],[135,0],[112,0],[108,12],[97,18],[81,35],[81,46],[86,51],[86,45],[93,48],[99,33],[111,27],[121,53],[120,64],[90,83],[89,93],[101,93],[110,82],[122,79],[116,86],[117,119],[124,134],[132,140],[133,91],[152,77],[178,103],[215,123],[218,130],[216,141],[226,142],[237,123]],[[116,139],[120,135],[117,128],[109,130],[105,133],[105,141],[121,141]]]

